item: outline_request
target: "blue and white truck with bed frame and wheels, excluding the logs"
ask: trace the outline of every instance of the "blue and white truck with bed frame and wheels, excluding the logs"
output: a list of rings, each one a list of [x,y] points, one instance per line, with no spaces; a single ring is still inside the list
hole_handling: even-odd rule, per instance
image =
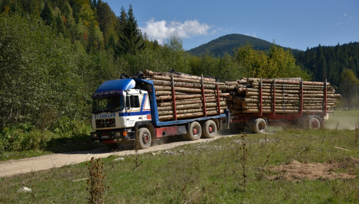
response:
[[[161,122],[153,81],[142,78],[105,81],[92,98],[91,139],[112,149],[137,139],[139,148],[148,148],[153,140],[174,135],[189,140],[215,137],[229,117],[226,109],[225,114]]]

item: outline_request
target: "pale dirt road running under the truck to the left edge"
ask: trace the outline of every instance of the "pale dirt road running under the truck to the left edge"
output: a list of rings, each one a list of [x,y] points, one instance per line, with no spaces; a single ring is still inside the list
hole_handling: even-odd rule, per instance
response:
[[[212,139],[199,139],[195,141],[179,141],[179,142],[166,143],[157,146],[151,146],[148,149],[140,149],[139,153],[143,154],[145,152],[165,150],[183,144],[212,141],[221,137],[232,137],[232,136],[234,135],[216,136],[215,138]],[[46,170],[56,167],[62,167],[65,165],[77,164],[91,160],[92,157],[106,158],[109,157],[110,155],[126,156],[133,154],[134,154],[134,150],[111,152],[107,147],[101,147],[88,151],[76,151],[76,152],[68,152],[63,154],[44,155],[40,157],[26,158],[20,160],[9,160],[9,161],[0,162],[0,177],[12,176],[15,174],[29,173],[32,171],[40,171],[40,170]]]

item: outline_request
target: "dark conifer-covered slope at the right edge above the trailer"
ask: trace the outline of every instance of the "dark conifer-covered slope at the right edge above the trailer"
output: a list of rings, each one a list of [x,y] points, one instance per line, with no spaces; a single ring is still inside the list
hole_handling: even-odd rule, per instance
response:
[[[350,42],[335,46],[307,48],[305,52],[294,55],[303,70],[311,74],[313,81],[328,79],[339,86],[340,75],[345,69],[352,70],[359,77],[359,43]]]

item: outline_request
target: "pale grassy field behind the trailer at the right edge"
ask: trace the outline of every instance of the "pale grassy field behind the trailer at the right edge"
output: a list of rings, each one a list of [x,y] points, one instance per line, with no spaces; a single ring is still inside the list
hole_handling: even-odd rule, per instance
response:
[[[359,110],[353,111],[334,111],[329,114],[329,120],[326,122],[326,127],[334,129],[339,123],[339,129],[354,129],[355,124],[359,121]]]

